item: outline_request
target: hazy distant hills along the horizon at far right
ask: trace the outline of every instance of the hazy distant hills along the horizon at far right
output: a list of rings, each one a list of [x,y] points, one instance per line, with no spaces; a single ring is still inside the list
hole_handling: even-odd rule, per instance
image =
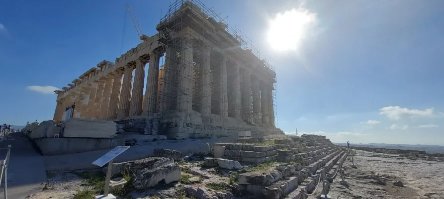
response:
[[[334,144],[347,146],[347,143],[334,143]],[[369,144],[355,144],[355,143],[351,143],[350,145],[351,146],[363,146],[363,147],[387,148],[387,149],[424,150],[427,153],[444,153],[444,146],[440,146],[440,145],[384,144],[384,143],[369,143]]]

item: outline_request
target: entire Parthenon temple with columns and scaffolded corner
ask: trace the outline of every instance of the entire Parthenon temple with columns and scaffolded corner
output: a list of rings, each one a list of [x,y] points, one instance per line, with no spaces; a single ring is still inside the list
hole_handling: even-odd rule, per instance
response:
[[[186,139],[275,127],[274,68],[250,40],[198,1],[177,0],[157,34],[55,91],[54,120],[144,118],[145,134]],[[145,83],[145,70],[148,77]]]

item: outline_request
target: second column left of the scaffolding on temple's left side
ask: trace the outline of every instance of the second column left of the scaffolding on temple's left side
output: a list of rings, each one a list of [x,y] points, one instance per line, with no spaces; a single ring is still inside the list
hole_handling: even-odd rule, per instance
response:
[[[133,92],[131,93],[131,104],[129,116],[142,114],[143,86],[145,80],[145,64],[142,59],[136,60],[136,72],[134,73]]]

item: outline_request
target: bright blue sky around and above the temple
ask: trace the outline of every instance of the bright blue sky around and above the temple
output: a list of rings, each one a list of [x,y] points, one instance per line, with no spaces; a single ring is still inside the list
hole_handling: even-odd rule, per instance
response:
[[[297,127],[336,142],[444,145],[444,1],[202,2],[228,16],[275,67],[283,131]],[[52,119],[56,95],[29,86],[64,87],[136,46],[126,3],[142,32],[153,35],[170,1],[3,2],[0,122]],[[283,36],[270,39],[276,14],[292,9],[310,16],[299,39],[285,38],[296,34],[292,18]],[[292,49],[275,47],[290,41]]]

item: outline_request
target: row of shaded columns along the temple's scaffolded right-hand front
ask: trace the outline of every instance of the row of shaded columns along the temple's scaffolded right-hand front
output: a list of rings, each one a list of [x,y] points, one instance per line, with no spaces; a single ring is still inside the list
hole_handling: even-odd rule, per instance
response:
[[[166,109],[191,110],[193,107],[193,97],[198,98],[194,100],[199,103],[198,111],[202,115],[209,116],[211,108],[211,82],[214,78],[211,64],[213,61],[217,62],[219,71],[220,96],[216,96],[220,101],[220,115],[222,119],[228,118],[229,107],[231,114],[236,119],[244,120],[247,123],[265,124],[274,126],[274,114],[272,103],[272,83],[265,84],[259,78],[251,78],[252,75],[248,70],[243,70],[239,66],[227,67],[228,58],[221,54],[220,60],[211,59],[211,49],[206,46],[199,46],[202,50],[199,54],[199,60],[193,60],[195,57],[195,46],[191,40],[182,39],[180,48],[167,48],[167,59],[164,66],[163,82],[160,89],[160,99],[164,102],[160,103],[159,111]],[[177,59],[176,52],[179,51],[180,58]],[[198,92],[199,95],[193,96],[193,64],[198,63]],[[177,68],[176,68],[177,67]],[[214,70],[214,68],[213,68]],[[170,72],[168,72],[170,71]],[[242,75],[241,75],[242,72]],[[215,71],[213,71],[215,73]],[[158,73],[156,73],[158,74]],[[176,75],[177,74],[177,75]],[[227,75],[230,74],[230,79],[233,82],[228,82]],[[242,84],[241,84],[242,78]],[[177,87],[174,86],[177,81]],[[215,80],[213,80],[215,81]],[[261,83],[261,84],[260,84]],[[196,89],[196,88],[194,88]],[[214,89],[214,88],[213,88]],[[230,91],[230,99],[228,98]],[[176,96],[175,96],[176,95]],[[169,103],[173,101],[172,103]],[[217,107],[219,109],[219,107]],[[242,112],[241,112],[242,110]],[[262,117],[261,117],[262,115]]]

